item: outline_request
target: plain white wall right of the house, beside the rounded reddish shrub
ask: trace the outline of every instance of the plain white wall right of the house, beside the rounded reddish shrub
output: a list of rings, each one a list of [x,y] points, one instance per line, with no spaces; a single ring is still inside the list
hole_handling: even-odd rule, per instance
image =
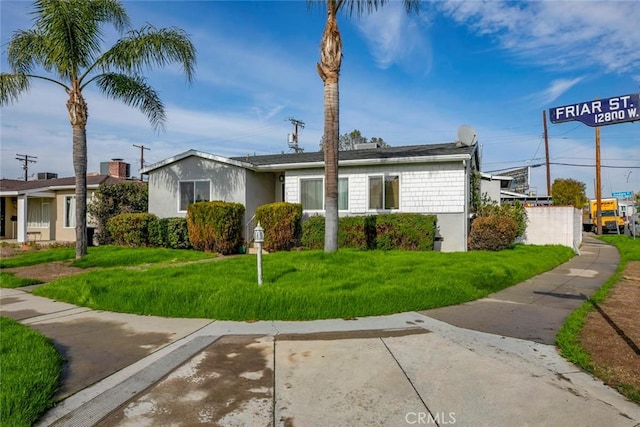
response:
[[[582,212],[572,206],[533,206],[527,211],[527,231],[523,243],[528,245],[563,245],[580,253]]]

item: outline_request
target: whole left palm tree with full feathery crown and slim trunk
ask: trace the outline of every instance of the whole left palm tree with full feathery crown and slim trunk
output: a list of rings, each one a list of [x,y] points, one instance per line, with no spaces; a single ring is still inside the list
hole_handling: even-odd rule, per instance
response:
[[[120,33],[130,28],[118,0],[38,0],[34,26],[17,31],[7,47],[11,73],[0,73],[0,106],[15,102],[34,79],[59,85],[69,95],[76,183],[76,258],[87,253],[87,103],[82,91],[91,83],[109,98],[143,112],[154,129],[165,121],[158,93],[141,75],[143,69],[179,63],[191,82],[195,48],[184,31],[147,25],[130,30],[101,51],[102,27]],[[39,67],[47,75],[33,74]]]

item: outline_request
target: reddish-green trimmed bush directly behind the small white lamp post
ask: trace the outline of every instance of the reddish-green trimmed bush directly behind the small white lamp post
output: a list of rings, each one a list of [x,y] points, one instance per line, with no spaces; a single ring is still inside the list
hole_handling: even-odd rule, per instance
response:
[[[302,205],[276,202],[256,209],[256,223],[264,228],[264,248],[269,252],[288,251],[300,243]]]

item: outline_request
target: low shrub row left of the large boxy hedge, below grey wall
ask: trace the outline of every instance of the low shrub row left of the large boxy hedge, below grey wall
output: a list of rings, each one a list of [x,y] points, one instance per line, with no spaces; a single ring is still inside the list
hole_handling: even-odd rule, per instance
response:
[[[191,247],[186,218],[158,218],[150,213],[123,213],[107,222],[111,241],[122,246]]]

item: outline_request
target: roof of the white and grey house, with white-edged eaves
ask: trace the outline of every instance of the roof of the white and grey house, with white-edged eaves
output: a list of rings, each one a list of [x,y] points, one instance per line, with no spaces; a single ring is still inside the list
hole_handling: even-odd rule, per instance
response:
[[[226,158],[197,150],[189,150],[150,165],[142,169],[141,173],[149,173],[155,169],[190,156],[197,156],[222,163],[233,164],[235,166],[255,171],[315,168],[322,167],[324,165],[324,153],[322,151]],[[467,146],[451,142],[445,144],[407,145],[402,147],[341,151],[339,154],[339,164],[347,166],[382,163],[435,162],[471,159],[474,156],[477,156],[475,145]]]

